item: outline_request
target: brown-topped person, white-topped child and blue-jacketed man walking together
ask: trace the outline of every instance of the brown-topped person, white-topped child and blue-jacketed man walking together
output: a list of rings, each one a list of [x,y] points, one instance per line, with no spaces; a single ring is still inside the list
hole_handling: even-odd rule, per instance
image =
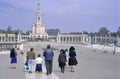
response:
[[[52,73],[52,64],[53,64],[53,56],[54,52],[51,49],[50,45],[47,45],[46,50],[43,52],[43,56],[45,58],[45,65],[46,65],[46,70],[47,70],[47,75]],[[40,54],[38,54],[38,57],[35,58],[35,52],[34,49],[31,48],[30,51],[27,52],[27,61],[26,65],[28,66],[29,73],[32,73],[32,67],[33,64],[36,64],[35,72],[36,73],[42,73],[42,62],[43,59]]]

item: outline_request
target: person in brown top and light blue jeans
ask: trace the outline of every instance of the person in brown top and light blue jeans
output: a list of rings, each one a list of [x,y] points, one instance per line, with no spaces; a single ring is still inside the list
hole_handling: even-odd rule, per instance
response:
[[[32,73],[34,60],[35,60],[34,48],[31,48],[30,51],[27,53],[27,60],[28,60],[28,70],[29,70],[29,73]]]

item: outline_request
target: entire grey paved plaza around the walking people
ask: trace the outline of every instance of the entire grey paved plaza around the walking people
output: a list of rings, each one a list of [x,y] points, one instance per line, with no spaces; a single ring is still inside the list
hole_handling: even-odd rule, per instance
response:
[[[25,54],[18,56],[17,68],[12,69],[10,65],[9,52],[0,52],[0,79],[120,79],[120,52],[113,55],[113,47],[101,46],[82,46],[75,44],[59,44],[59,43],[24,43],[23,49],[27,52],[28,48],[33,47],[36,55],[42,54],[43,49],[50,44],[54,50],[53,73],[46,75],[43,62],[43,73],[28,73],[25,70]],[[78,65],[75,72],[70,72],[69,68],[64,73],[60,72],[58,67],[58,55],[60,49],[69,49],[75,46]],[[104,52],[107,51],[107,52]]]

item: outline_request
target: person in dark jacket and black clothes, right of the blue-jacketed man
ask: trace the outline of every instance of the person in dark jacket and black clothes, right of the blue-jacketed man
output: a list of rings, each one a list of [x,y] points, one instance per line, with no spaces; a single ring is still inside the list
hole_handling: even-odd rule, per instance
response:
[[[66,65],[66,54],[63,49],[60,50],[60,54],[58,57],[59,67],[61,68],[61,72],[64,73],[65,65]]]

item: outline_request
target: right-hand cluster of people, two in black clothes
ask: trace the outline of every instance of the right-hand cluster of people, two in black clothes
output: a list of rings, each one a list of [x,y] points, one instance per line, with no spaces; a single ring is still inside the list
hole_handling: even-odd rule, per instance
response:
[[[71,72],[74,72],[75,66],[78,64],[75,48],[71,46],[69,52],[67,49],[61,49],[58,57],[58,62],[62,73],[64,73],[65,66],[69,67]]]

